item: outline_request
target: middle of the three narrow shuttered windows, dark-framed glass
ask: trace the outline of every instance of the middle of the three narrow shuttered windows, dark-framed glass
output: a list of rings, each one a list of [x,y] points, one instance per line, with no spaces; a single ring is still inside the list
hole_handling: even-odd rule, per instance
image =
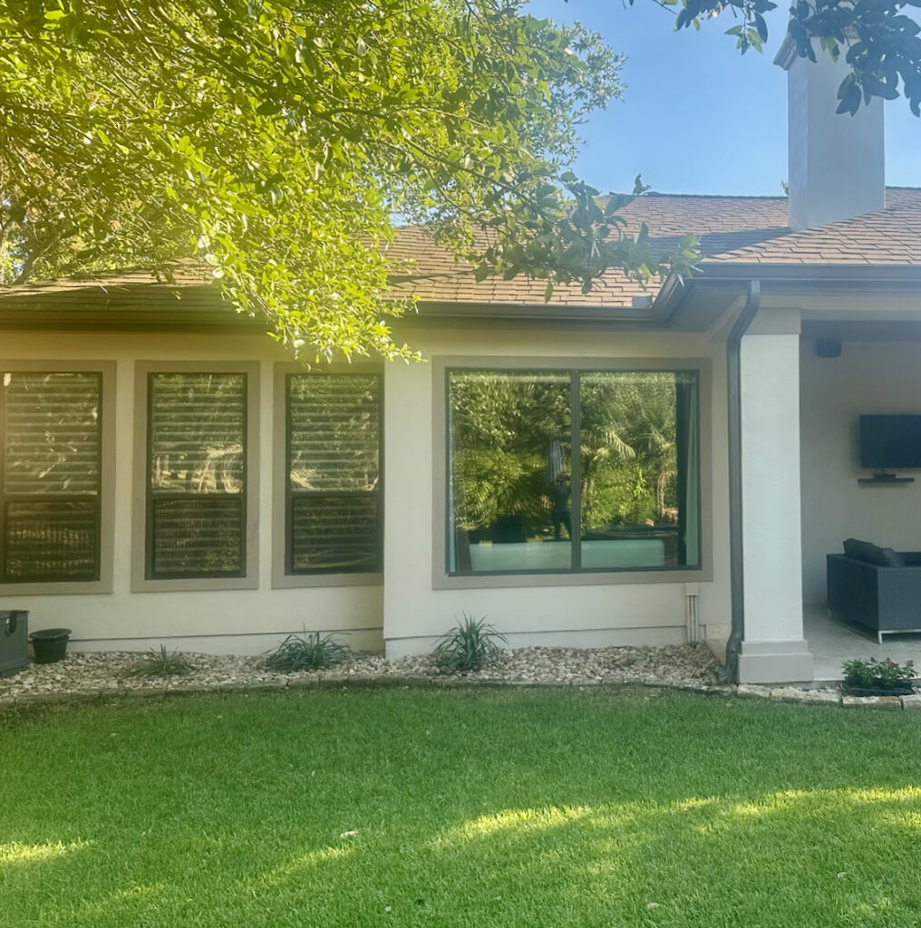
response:
[[[147,577],[246,573],[247,375],[148,375]]]

